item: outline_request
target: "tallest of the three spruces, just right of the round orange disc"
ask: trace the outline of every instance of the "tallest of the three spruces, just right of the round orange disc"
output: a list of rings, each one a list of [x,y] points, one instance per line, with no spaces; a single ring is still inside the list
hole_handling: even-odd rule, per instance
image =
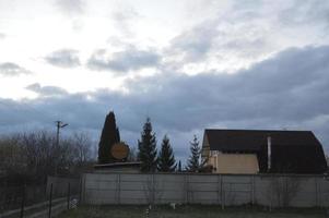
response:
[[[156,170],[156,138],[155,133],[152,133],[152,124],[150,118],[143,125],[141,140],[138,141],[139,160],[141,161],[142,172],[154,172]]]

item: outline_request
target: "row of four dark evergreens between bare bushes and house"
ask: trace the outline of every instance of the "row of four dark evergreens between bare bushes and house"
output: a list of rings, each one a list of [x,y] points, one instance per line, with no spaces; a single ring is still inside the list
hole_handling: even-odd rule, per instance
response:
[[[111,146],[120,141],[119,129],[116,125],[116,118],[110,111],[105,119],[102,136],[98,145],[98,164],[111,164],[117,160],[111,155]],[[131,148],[131,147],[130,147]],[[138,152],[130,150],[128,161],[141,161],[142,172],[174,172],[174,171],[202,171],[201,148],[199,141],[195,135],[190,142],[190,156],[186,167],[183,169],[181,162],[176,161],[171,140],[168,135],[164,135],[161,142],[161,147],[157,150],[156,136],[152,129],[151,119],[148,118],[143,124],[140,140],[138,140]],[[124,160],[125,161],[125,160]]]

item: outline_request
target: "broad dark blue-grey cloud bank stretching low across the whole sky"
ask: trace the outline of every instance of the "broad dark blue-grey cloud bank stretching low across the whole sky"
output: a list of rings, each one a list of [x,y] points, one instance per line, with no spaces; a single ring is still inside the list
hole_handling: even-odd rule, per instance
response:
[[[163,72],[128,80],[129,94],[99,89],[61,98],[1,99],[0,126],[62,119],[72,129],[99,134],[105,114],[114,110],[122,140],[136,145],[150,116],[158,142],[168,134],[179,157],[188,155],[188,140],[193,133],[201,137],[204,128],[312,130],[328,149],[327,60],[329,46],[292,48],[234,74]]]

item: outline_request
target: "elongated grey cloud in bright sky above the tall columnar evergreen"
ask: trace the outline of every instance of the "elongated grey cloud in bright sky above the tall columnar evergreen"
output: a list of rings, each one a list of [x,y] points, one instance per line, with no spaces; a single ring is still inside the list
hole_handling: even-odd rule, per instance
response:
[[[128,72],[143,68],[156,66],[160,56],[153,49],[138,49],[129,46],[124,51],[109,53],[95,51],[87,61],[87,66],[96,71]]]

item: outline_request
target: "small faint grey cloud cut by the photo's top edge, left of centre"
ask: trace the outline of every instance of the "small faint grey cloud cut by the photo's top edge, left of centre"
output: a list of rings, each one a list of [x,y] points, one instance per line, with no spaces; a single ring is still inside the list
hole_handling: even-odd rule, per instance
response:
[[[68,15],[83,13],[85,8],[84,0],[56,0],[56,5]]]

